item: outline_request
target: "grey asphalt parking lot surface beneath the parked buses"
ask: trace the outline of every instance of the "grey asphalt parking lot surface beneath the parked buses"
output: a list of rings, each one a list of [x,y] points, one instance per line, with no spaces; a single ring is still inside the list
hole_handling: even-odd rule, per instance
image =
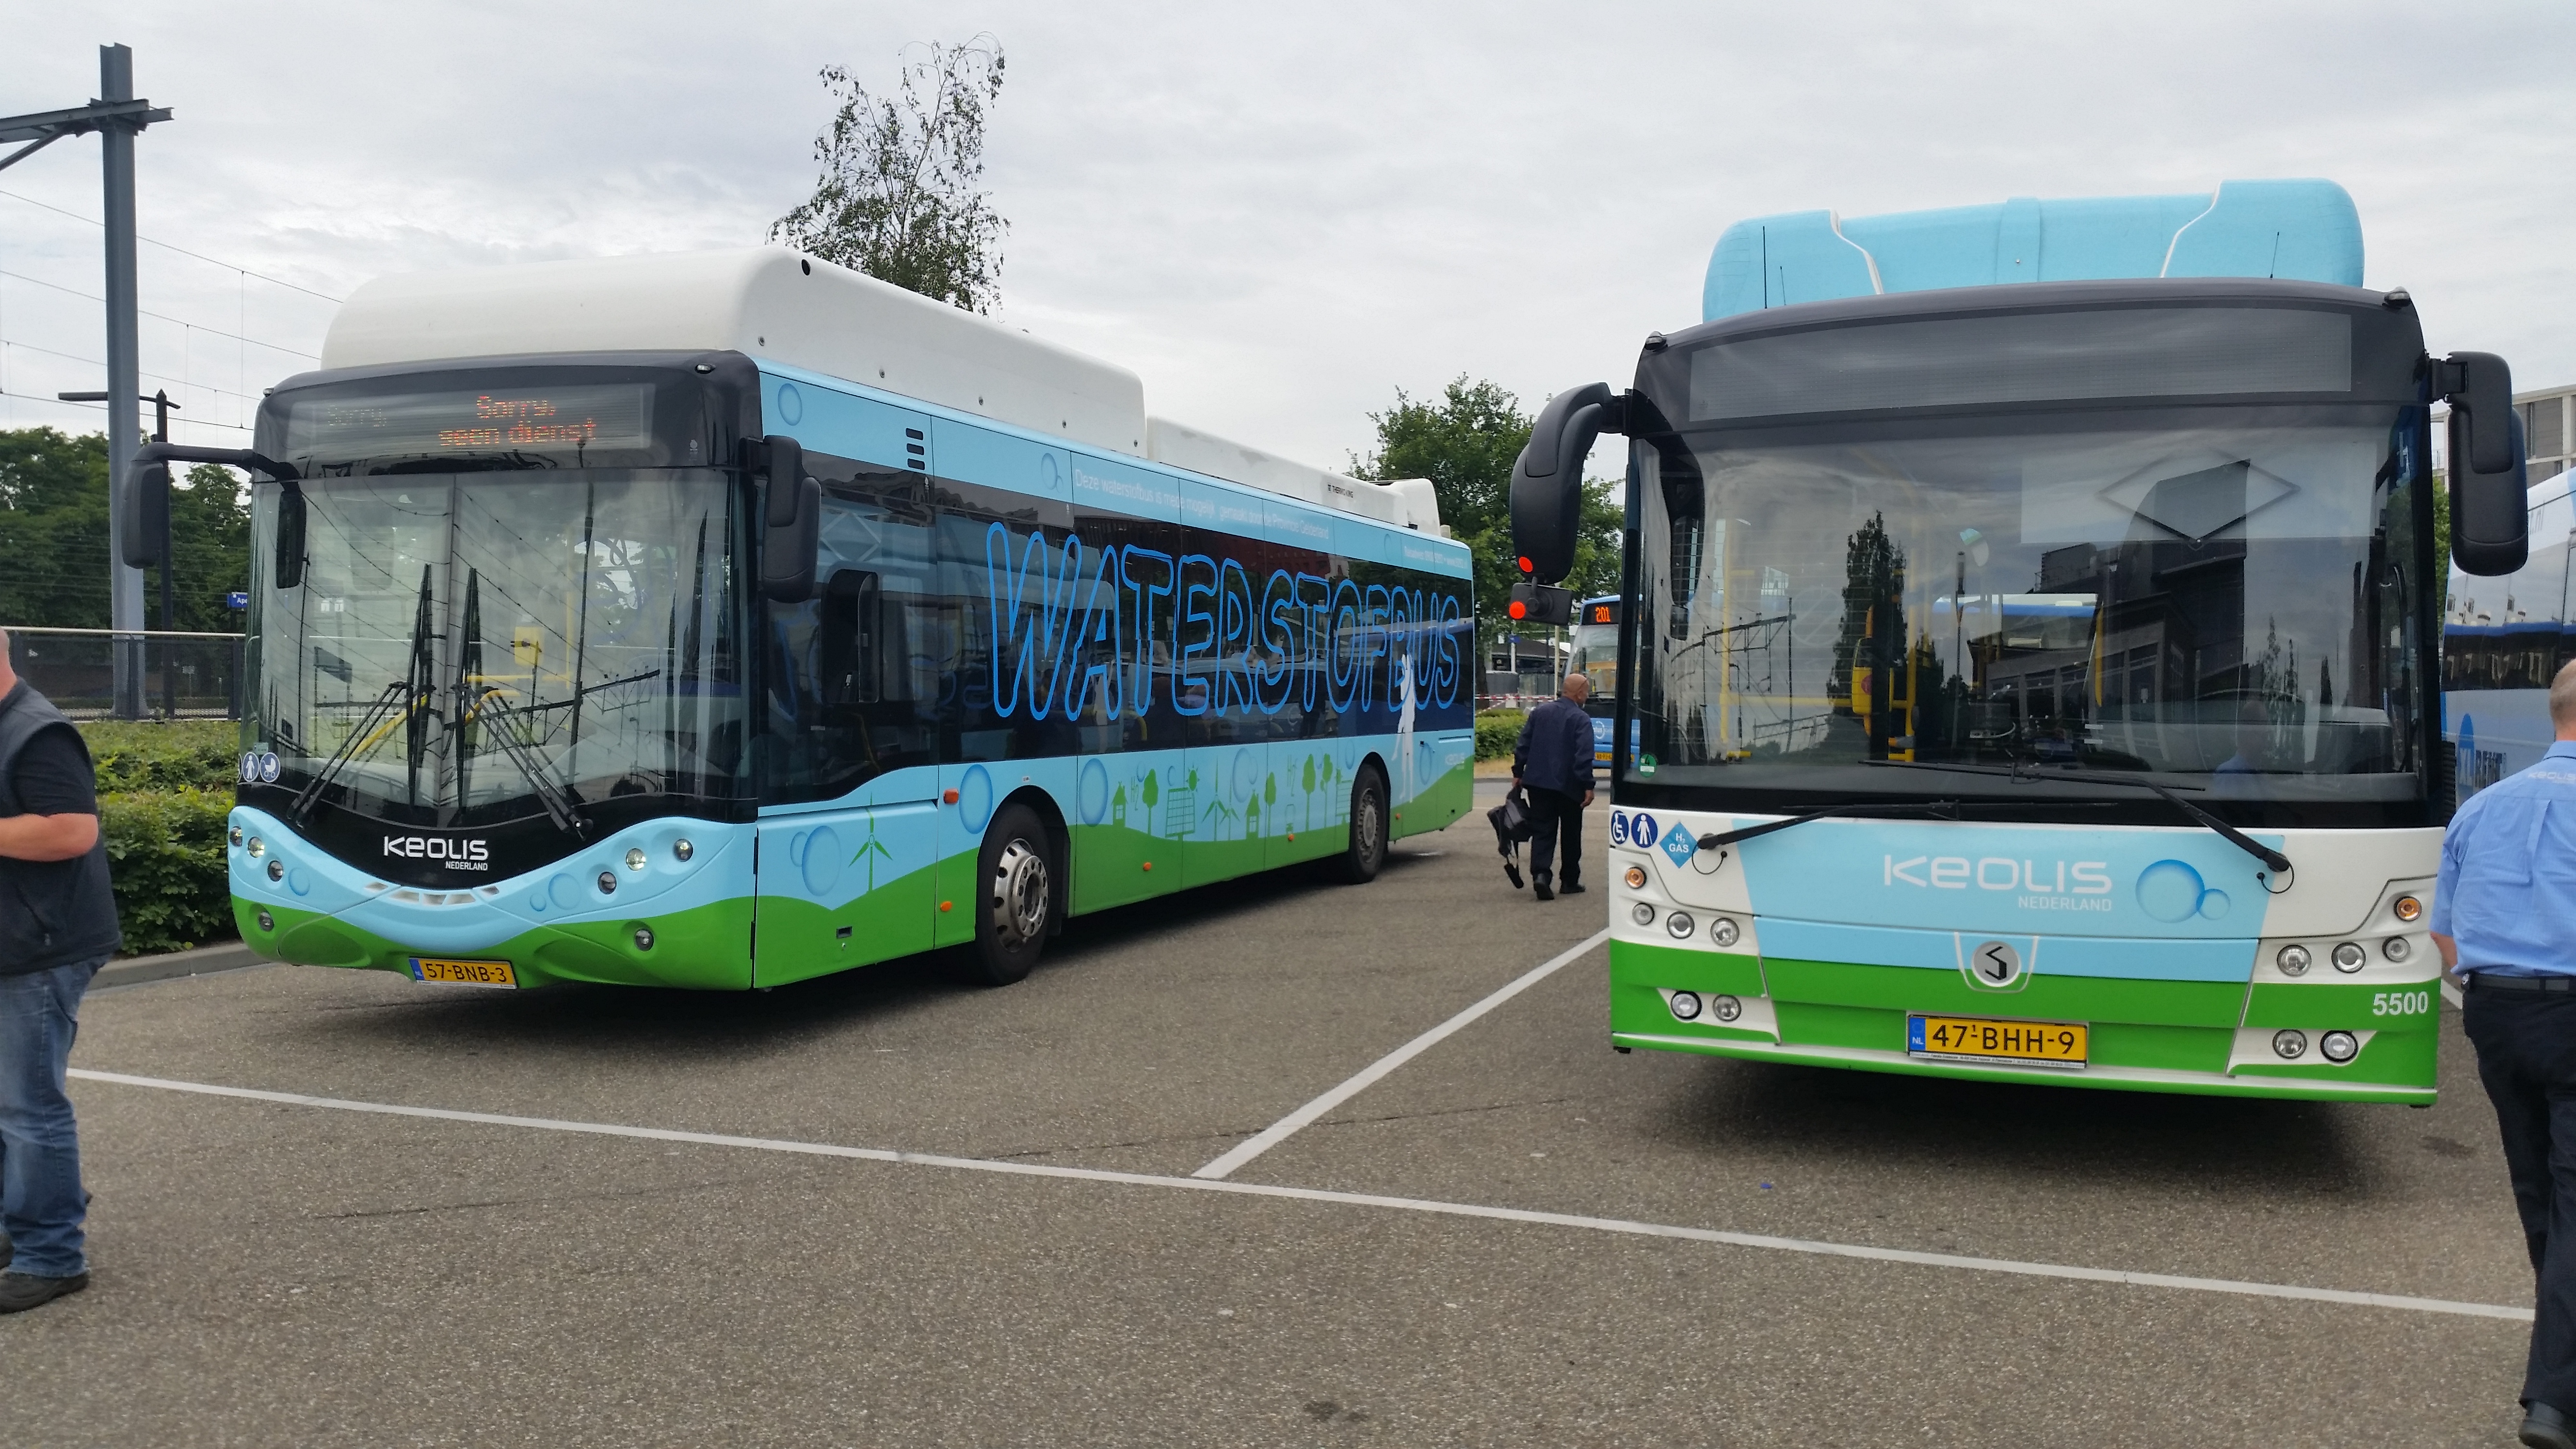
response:
[[[1602,900],[1471,817],[1005,990],[103,987],[0,1444],[2512,1444],[2455,1013],[2424,1111],[2002,1088],[1615,1055],[1592,946],[1193,1176]]]

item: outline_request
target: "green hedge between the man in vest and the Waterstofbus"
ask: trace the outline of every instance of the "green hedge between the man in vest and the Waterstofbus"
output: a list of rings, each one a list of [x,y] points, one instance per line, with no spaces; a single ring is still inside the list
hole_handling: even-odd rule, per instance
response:
[[[232,719],[90,719],[98,828],[126,951],[185,951],[229,941],[224,815],[240,779],[242,727]]]

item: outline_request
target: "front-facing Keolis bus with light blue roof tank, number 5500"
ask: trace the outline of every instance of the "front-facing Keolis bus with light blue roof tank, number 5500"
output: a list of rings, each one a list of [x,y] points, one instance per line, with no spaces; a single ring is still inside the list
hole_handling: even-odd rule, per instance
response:
[[[1610,1039],[2434,1098],[2432,405],[2522,567],[2512,382],[2365,291],[2324,180],[1762,217],[1548,400],[1533,583],[1631,438]]]

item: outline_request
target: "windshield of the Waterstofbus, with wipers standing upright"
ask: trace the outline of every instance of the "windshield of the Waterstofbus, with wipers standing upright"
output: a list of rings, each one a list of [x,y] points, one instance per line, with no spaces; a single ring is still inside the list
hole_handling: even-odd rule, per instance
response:
[[[737,794],[724,474],[417,472],[299,492],[289,588],[273,552],[296,505],[263,482],[252,521],[252,737],[276,784],[410,825]]]

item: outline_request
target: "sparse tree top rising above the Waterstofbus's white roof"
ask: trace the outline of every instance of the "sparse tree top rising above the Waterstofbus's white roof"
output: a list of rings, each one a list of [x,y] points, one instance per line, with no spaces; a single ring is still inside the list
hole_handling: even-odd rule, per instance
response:
[[[927,52],[927,54],[920,54]],[[1002,44],[907,46],[891,98],[822,67],[840,98],[814,137],[822,178],[770,240],[969,312],[1002,299],[1002,232],[984,191],[984,116],[1002,98]]]

